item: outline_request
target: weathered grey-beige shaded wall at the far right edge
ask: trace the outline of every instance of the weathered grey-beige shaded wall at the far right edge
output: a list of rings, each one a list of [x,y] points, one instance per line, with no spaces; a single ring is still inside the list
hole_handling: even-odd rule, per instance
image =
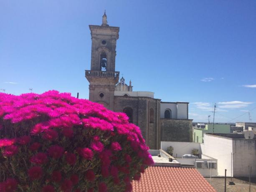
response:
[[[256,177],[256,140],[233,139],[233,172],[234,177]]]

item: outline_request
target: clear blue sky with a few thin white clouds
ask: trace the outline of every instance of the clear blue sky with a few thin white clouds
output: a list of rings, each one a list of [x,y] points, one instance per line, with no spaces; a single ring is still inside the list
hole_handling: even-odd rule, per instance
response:
[[[88,99],[88,25],[105,9],[120,27],[116,71],[134,91],[190,102],[194,121],[212,121],[214,103],[215,122],[256,121],[254,0],[0,0],[1,91]]]

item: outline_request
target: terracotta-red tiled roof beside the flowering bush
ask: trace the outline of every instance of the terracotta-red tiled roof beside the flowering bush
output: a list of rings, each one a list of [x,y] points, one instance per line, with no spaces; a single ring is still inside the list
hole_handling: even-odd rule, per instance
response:
[[[133,192],[216,192],[195,168],[148,167]]]

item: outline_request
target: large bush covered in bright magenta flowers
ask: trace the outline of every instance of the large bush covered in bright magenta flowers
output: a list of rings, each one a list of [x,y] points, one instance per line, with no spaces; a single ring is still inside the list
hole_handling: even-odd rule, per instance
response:
[[[70,93],[0,93],[0,192],[131,191],[152,164],[123,113]]]

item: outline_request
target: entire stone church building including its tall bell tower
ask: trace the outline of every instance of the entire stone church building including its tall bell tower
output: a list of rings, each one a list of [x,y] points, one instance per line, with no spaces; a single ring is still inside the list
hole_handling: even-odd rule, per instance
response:
[[[150,149],[160,149],[161,141],[192,141],[192,119],[188,119],[188,102],[162,102],[150,91],[133,91],[124,77],[119,81],[115,71],[119,27],[107,24],[106,13],[101,25],[91,30],[91,70],[85,71],[89,81],[89,100],[112,111],[127,114],[129,121],[140,127]]]

